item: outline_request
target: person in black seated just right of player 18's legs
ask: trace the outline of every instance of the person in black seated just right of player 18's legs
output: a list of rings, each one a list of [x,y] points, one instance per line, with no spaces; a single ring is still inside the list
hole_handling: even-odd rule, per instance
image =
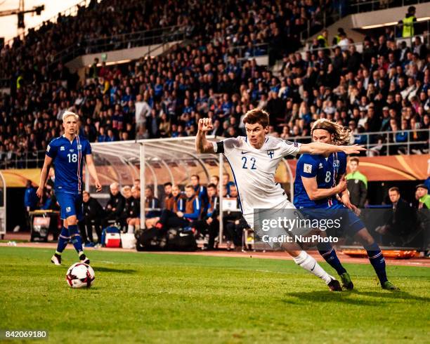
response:
[[[91,197],[89,192],[82,192],[82,204],[84,220],[79,221],[79,230],[85,246],[93,246],[93,226],[97,234],[97,244],[101,246],[101,219],[103,218],[103,207],[97,199]]]

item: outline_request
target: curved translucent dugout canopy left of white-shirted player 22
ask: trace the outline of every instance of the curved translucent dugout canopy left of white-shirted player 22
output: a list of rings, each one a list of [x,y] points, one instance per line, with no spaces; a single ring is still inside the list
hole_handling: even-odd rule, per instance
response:
[[[223,139],[213,135],[207,138]],[[91,147],[96,166],[105,167],[102,171],[105,180],[127,185],[133,181],[131,178],[142,177],[141,180],[146,178],[146,181],[150,182],[145,184],[155,185],[155,189],[157,185],[168,181],[173,184],[183,183],[184,180],[189,180],[192,174],[206,177],[209,182],[211,170],[223,161],[216,154],[198,154],[194,137],[93,143]],[[145,161],[144,176],[141,176],[141,161]],[[108,171],[110,166],[114,168]],[[202,181],[204,182],[204,179]]]

